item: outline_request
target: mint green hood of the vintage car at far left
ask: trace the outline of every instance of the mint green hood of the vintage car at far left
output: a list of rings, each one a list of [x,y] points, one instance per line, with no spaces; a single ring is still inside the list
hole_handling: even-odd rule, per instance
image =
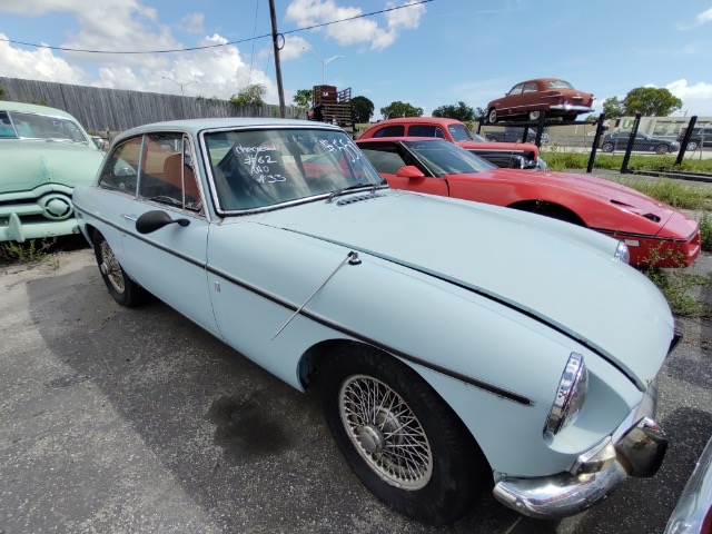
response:
[[[103,159],[103,152],[91,146],[47,140],[3,140],[0,155],[0,192],[43,184],[89,185]]]

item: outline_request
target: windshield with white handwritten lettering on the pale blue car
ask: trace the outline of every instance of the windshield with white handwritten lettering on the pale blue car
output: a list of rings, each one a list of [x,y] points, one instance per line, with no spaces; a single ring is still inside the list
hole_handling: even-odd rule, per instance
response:
[[[383,181],[343,131],[222,130],[202,138],[224,211],[266,208]]]

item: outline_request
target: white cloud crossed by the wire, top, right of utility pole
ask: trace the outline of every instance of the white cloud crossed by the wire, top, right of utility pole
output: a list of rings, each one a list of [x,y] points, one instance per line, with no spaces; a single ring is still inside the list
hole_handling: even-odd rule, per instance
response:
[[[411,3],[412,0],[408,0],[404,4]],[[285,19],[300,28],[306,28],[358,17],[363,13],[360,8],[339,7],[334,0],[293,0],[287,7]],[[370,42],[370,48],[378,50],[393,44],[400,30],[417,28],[424,13],[425,7],[418,4],[385,13],[387,29],[378,26],[372,18],[362,18],[329,24],[318,31],[324,31],[339,44]]]

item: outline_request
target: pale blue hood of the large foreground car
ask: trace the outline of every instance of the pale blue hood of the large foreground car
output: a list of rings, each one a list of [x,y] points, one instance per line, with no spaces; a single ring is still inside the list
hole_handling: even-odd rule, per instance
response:
[[[599,352],[641,389],[656,375],[674,322],[652,283],[613,259],[614,239],[496,206],[407,191],[379,195],[342,206],[312,202],[257,220],[520,309]]]

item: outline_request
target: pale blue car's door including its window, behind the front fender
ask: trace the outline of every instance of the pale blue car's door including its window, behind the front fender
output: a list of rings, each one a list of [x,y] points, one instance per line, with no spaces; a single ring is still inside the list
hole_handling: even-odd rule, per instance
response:
[[[206,274],[209,221],[194,154],[182,134],[144,136],[138,195],[121,214],[123,251],[139,285],[219,336]],[[148,211],[164,211],[181,222],[141,234],[136,224]]]

